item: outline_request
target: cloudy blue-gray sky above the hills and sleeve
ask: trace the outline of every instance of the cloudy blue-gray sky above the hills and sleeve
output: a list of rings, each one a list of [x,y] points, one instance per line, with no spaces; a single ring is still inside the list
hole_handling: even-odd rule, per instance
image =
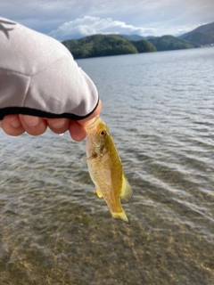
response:
[[[178,36],[214,21],[213,0],[5,0],[0,16],[60,41],[95,34]]]

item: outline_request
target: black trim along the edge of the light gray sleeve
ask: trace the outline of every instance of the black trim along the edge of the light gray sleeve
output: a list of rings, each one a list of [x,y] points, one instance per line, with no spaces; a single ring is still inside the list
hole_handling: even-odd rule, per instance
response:
[[[45,112],[44,110],[31,109],[26,107],[7,107],[0,109],[0,120],[2,120],[6,115],[21,114],[21,115],[30,115],[41,118],[70,118],[77,121],[89,117],[96,110],[98,103],[99,99],[95,105],[95,109],[92,110],[89,114],[86,114],[85,116],[78,116],[70,113],[54,114],[50,112]]]

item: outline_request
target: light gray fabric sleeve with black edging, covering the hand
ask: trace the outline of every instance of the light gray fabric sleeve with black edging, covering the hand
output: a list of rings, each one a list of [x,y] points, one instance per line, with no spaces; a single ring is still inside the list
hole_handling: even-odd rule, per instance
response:
[[[94,83],[60,42],[0,18],[0,43],[0,119],[21,113],[77,120],[96,109]]]

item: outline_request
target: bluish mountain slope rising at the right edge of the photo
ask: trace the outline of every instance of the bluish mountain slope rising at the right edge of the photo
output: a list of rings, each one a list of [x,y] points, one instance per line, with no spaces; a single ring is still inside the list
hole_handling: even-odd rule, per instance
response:
[[[195,28],[179,38],[198,45],[214,44],[214,22]]]

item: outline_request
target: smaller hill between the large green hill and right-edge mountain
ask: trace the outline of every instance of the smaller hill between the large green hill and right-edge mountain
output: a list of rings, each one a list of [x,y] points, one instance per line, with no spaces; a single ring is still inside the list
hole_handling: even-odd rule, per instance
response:
[[[181,50],[199,46],[193,45],[183,39],[173,36],[153,37],[150,38],[148,41],[156,47],[157,51]]]

